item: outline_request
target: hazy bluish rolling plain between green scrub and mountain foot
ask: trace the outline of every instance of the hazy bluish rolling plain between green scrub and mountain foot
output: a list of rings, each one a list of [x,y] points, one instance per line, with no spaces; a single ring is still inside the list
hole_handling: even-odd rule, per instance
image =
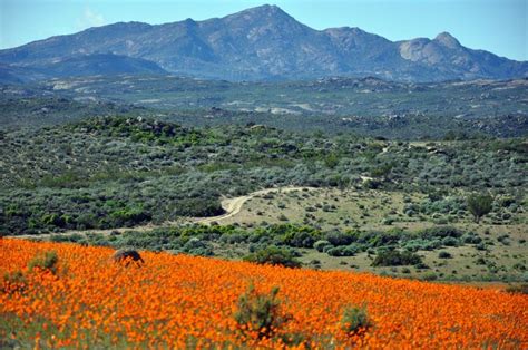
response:
[[[262,124],[399,139],[525,137],[527,87],[528,79],[405,84],[375,78],[286,82],[130,75],[57,78],[0,86],[0,130],[119,114],[190,127]]]

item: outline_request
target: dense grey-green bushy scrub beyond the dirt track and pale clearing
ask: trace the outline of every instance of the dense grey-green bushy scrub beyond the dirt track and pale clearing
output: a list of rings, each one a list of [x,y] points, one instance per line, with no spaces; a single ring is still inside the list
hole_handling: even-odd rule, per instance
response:
[[[4,133],[2,142],[0,230],[10,233],[212,216],[222,213],[221,195],[285,185],[420,191],[437,200],[457,188],[492,191],[521,210],[516,188],[526,184],[522,139],[415,145],[115,117]]]

